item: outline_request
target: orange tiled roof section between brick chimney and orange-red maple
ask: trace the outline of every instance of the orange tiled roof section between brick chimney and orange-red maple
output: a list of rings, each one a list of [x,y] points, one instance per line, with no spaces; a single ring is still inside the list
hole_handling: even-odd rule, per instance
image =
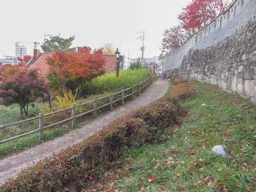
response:
[[[45,52],[30,66],[30,69],[38,69],[40,73],[47,74],[50,66],[47,64],[46,58],[51,57],[54,52]]]

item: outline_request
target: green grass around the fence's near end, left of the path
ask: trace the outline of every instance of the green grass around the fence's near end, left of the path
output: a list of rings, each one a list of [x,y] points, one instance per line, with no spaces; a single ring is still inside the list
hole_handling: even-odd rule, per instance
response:
[[[32,106],[29,107],[29,110],[28,110],[29,114],[28,114],[28,117],[26,118],[38,116],[38,114],[41,112],[40,110],[42,108],[45,108],[46,106],[47,104],[45,103],[35,103],[34,108],[32,108]],[[0,125],[25,119],[25,116],[20,116],[20,108],[18,105],[13,105],[9,107],[0,105],[0,110],[1,110]],[[80,128],[81,126],[89,123],[91,120],[93,120],[92,116],[85,116],[84,118],[80,118],[76,121],[75,128]],[[68,127],[62,127],[60,125],[60,126],[54,126],[50,129],[44,130],[43,140],[38,139],[38,132],[36,132],[34,134],[30,134],[28,136],[24,136],[24,137],[0,144],[0,159],[6,156],[24,151],[27,148],[34,147],[48,140],[52,140],[58,136],[62,136],[63,134],[70,132],[70,130],[74,130],[74,129],[71,129],[69,122],[67,124],[68,124]],[[0,140],[4,140],[6,138],[23,134],[23,133],[35,130],[37,128],[38,128],[38,120],[4,128],[0,130]]]

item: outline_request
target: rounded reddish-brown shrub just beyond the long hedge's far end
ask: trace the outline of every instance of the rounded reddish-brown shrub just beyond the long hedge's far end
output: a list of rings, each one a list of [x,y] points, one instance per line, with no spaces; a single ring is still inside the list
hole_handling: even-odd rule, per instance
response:
[[[171,93],[172,97],[178,100],[184,100],[188,97],[196,95],[196,89],[188,82],[177,84]]]

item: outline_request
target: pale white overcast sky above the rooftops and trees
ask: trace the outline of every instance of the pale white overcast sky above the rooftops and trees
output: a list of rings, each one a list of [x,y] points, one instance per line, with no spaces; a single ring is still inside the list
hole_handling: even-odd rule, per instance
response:
[[[14,56],[15,42],[44,41],[44,34],[68,38],[72,47],[99,48],[113,43],[121,54],[144,57],[160,54],[164,29],[178,24],[177,16],[191,0],[1,0],[0,58]]]

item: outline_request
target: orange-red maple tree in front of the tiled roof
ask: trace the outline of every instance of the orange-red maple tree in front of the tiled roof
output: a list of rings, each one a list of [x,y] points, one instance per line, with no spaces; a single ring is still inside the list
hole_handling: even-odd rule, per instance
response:
[[[92,51],[89,47],[79,52],[60,52],[48,58],[52,72],[56,72],[64,81],[64,86],[72,91],[76,99],[79,91],[93,78],[104,73],[102,50]]]

